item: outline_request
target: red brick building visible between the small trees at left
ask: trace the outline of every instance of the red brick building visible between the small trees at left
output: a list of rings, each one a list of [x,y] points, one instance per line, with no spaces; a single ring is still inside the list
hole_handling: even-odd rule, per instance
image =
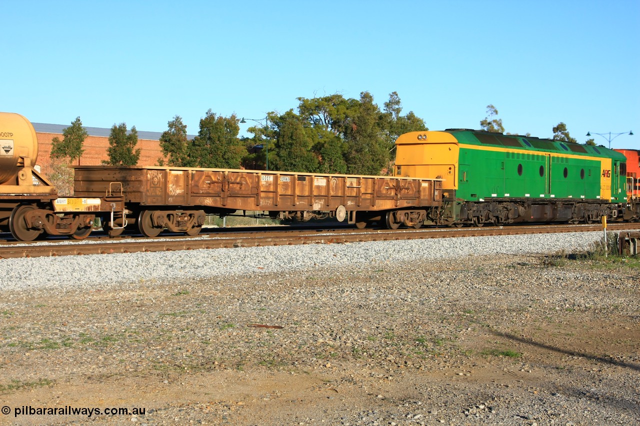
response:
[[[38,138],[38,161],[36,164],[40,166],[40,170],[44,175],[49,173],[51,167],[51,141],[56,136],[62,139],[62,131],[67,125],[31,123],[36,130]],[[97,166],[102,164],[103,160],[108,160],[107,148],[109,148],[109,134],[111,129],[102,129],[100,127],[84,127],[89,136],[84,139],[84,152],[79,161],[74,165],[81,166]],[[138,131],[138,145],[140,148],[139,166],[156,166],[157,161],[162,157],[160,148],[161,132],[140,132]],[[193,136],[189,136],[193,138]]]

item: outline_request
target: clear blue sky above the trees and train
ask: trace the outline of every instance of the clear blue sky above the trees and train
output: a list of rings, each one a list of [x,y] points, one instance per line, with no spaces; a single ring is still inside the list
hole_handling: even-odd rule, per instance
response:
[[[431,130],[559,122],[640,148],[639,0],[0,0],[0,111],[32,122],[197,134],[207,109],[262,118],[369,91]],[[251,122],[242,125],[241,135]],[[607,140],[595,136],[597,143]]]

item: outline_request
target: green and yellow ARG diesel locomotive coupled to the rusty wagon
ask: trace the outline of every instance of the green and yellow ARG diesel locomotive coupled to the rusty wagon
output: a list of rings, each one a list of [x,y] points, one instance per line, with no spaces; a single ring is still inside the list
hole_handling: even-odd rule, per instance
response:
[[[637,221],[627,160],[604,146],[480,130],[410,132],[394,175],[442,179],[442,224]]]

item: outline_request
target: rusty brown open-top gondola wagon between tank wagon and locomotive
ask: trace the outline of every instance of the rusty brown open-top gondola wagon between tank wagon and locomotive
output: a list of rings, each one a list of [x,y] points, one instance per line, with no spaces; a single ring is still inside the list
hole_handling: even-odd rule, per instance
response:
[[[125,216],[109,235],[136,225],[155,237],[164,228],[196,235],[205,215],[238,210],[306,221],[345,219],[358,228],[383,221],[389,228],[419,228],[442,207],[442,180],[406,177],[319,175],[257,170],[76,166],[74,191],[99,197],[122,188]]]

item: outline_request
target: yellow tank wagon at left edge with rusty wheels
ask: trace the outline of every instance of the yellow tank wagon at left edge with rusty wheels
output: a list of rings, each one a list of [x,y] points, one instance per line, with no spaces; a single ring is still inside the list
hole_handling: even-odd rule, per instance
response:
[[[0,230],[19,241],[41,235],[83,239],[97,213],[124,209],[122,196],[59,197],[56,188],[35,170],[38,139],[20,114],[0,113]]]

